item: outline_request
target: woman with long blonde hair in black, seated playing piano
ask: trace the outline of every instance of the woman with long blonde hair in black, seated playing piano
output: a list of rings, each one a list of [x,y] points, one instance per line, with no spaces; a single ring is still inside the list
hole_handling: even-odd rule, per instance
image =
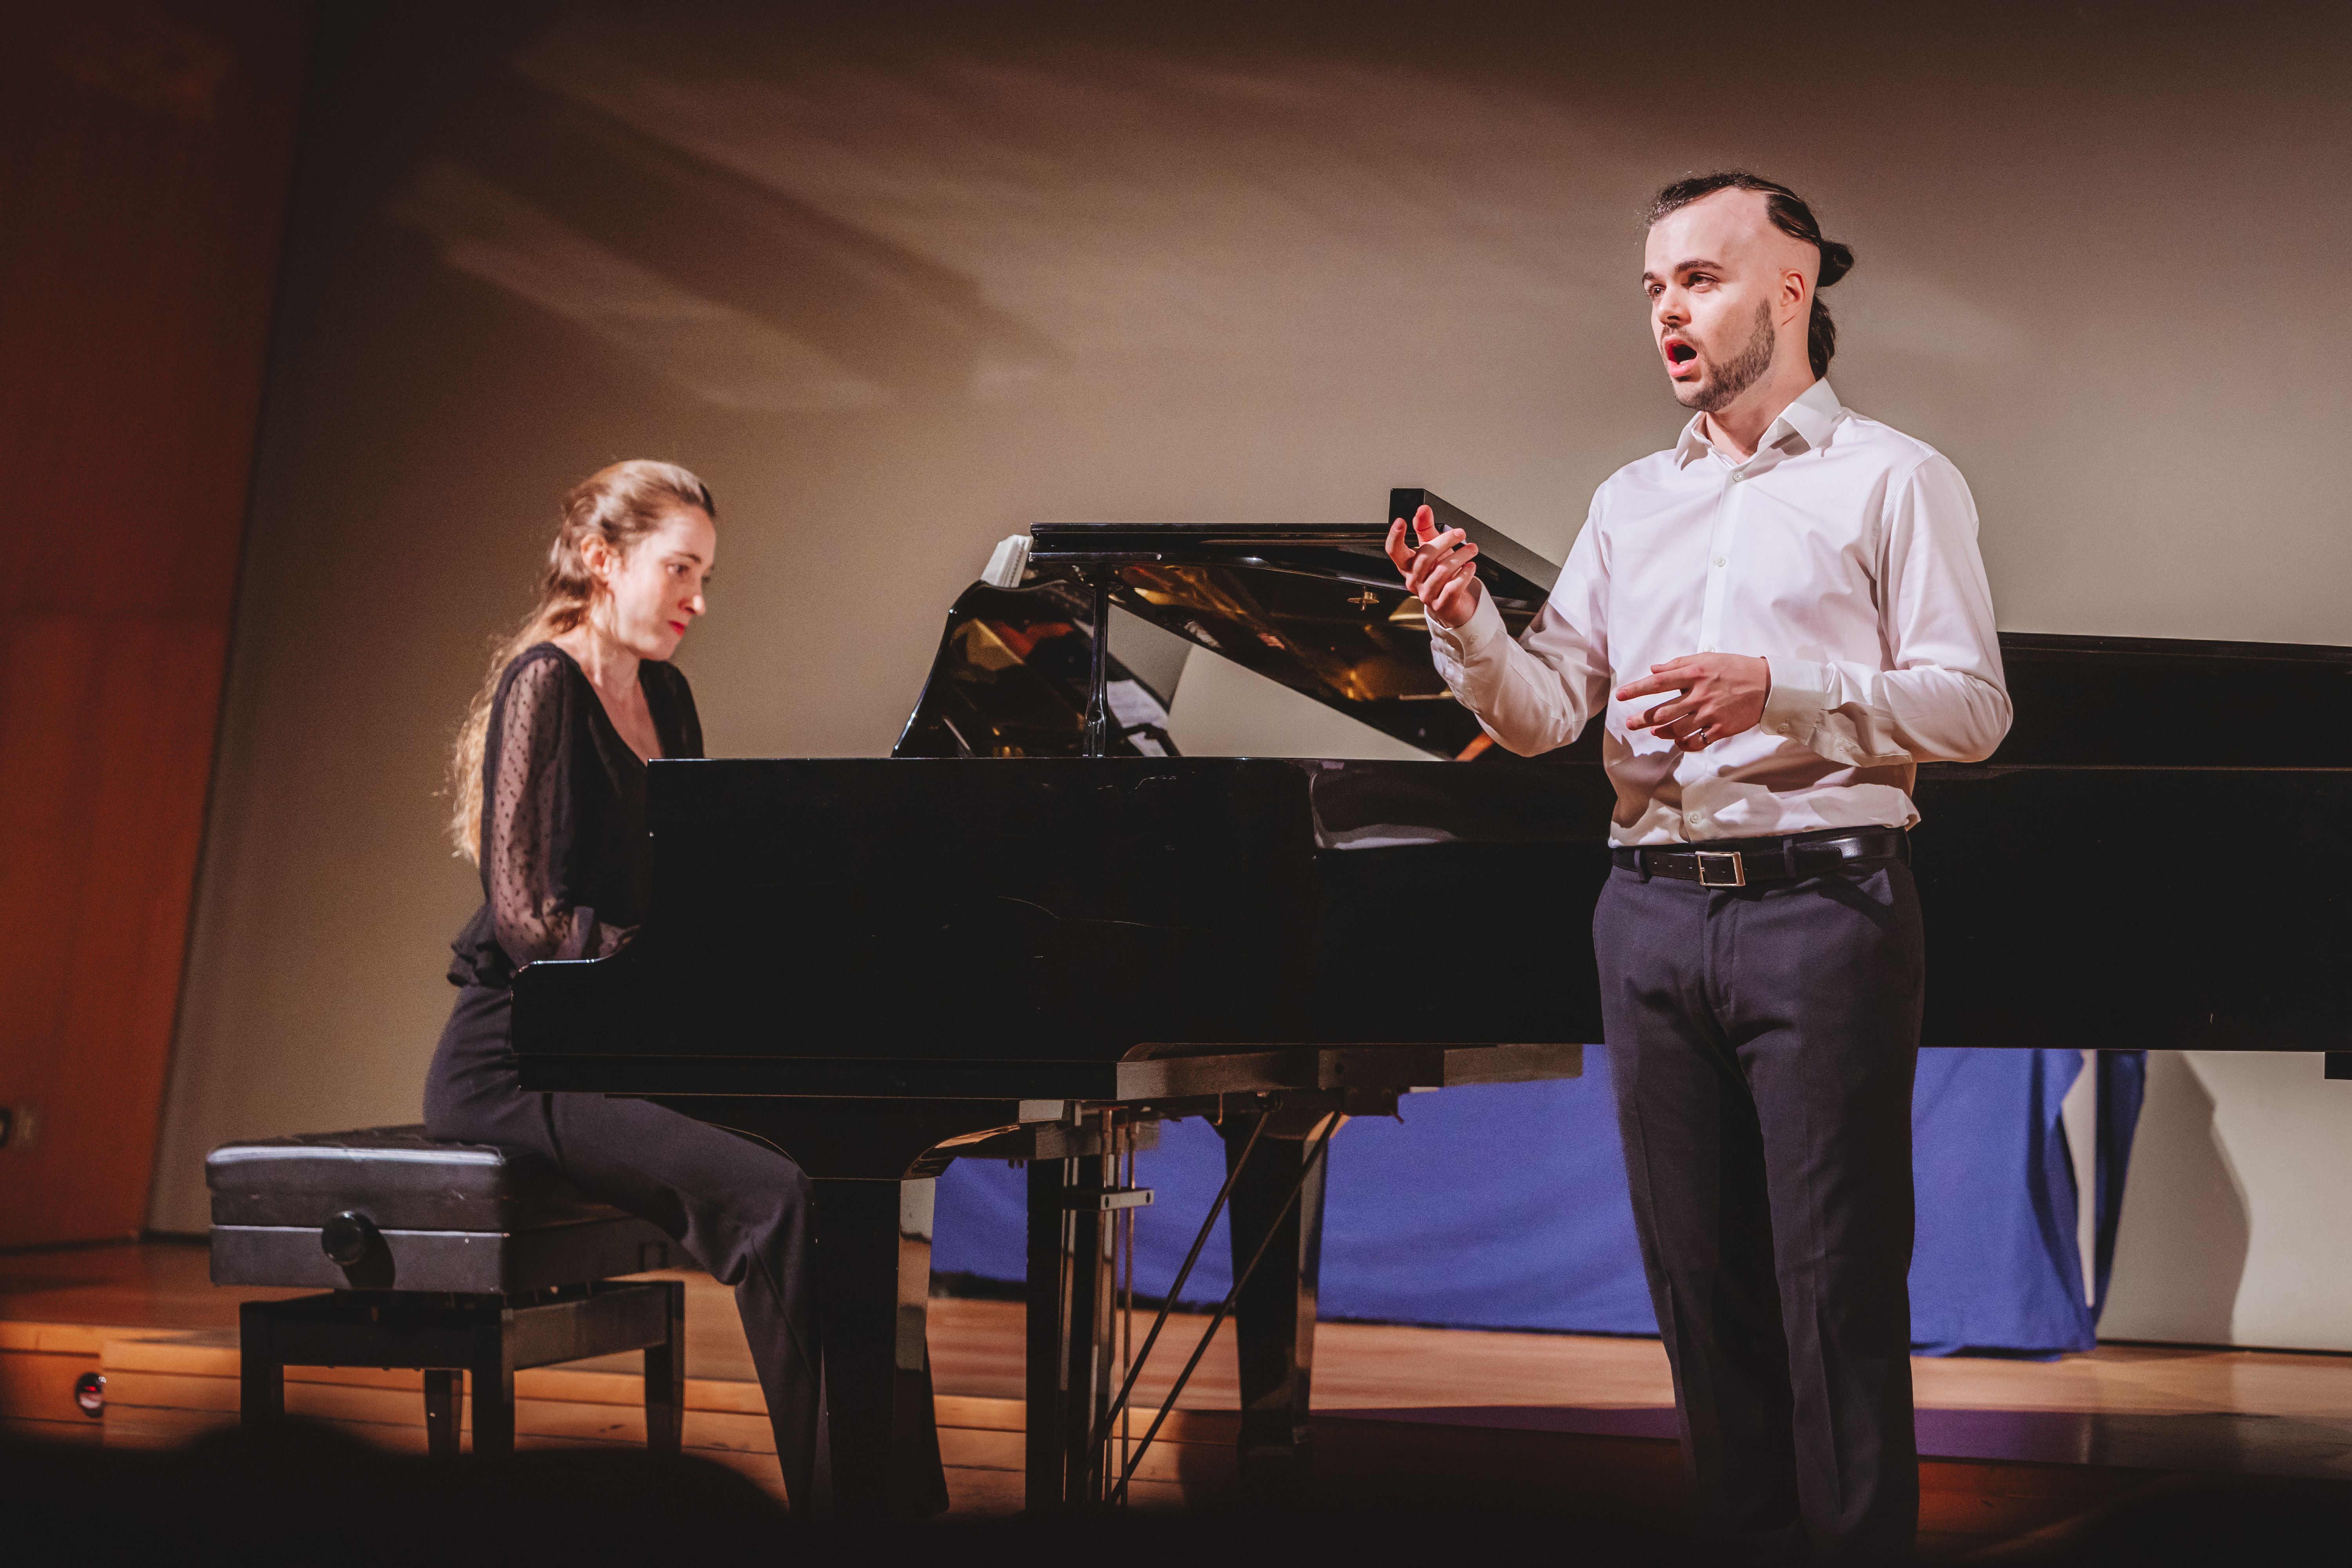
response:
[[[452,759],[459,853],[482,907],[452,943],[456,1009],[426,1131],[529,1150],[666,1229],[731,1284],[795,1507],[814,1500],[818,1345],[809,1180],[776,1150],[642,1100],[524,1093],[508,1058],[515,971],[604,957],[644,917],[644,773],[701,757],[670,656],[703,614],[710,491],[673,463],[614,463],[564,496],[539,609],[489,665]]]

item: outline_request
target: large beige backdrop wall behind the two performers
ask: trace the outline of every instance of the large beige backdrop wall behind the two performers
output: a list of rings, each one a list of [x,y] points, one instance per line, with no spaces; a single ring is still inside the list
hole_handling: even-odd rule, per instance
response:
[[[416,1114],[477,898],[442,745],[572,480],[654,454],[715,487],[680,656],[715,752],[877,755],[1030,520],[1430,484],[1564,555],[1682,418],[1635,273],[1686,169],[1788,179],[1853,244],[1832,378],[1969,475],[2006,628],[2352,642],[2340,7],[332,9],[162,1229],[202,1227],[221,1138]],[[1178,696],[1216,748],[1336,745],[1254,712]],[[2157,1074],[2136,1324],[2194,1262],[2173,1218],[2143,1237],[2140,1175],[2204,1201],[2211,1150],[2274,1143],[2241,1067]],[[2303,1237],[2239,1248],[2263,1300],[2352,1269],[2293,1206],[2352,1175],[2352,1084],[2279,1072],[2298,1178],[2239,1159],[2199,1220]],[[2164,1321],[2352,1347],[2312,1295]]]

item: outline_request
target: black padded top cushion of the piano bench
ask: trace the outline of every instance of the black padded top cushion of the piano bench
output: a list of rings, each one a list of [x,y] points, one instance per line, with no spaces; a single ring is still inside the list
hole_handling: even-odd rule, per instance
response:
[[[487,1143],[433,1143],[421,1126],[369,1126],[223,1143],[205,1157],[214,1225],[320,1227],[350,1208],[383,1229],[517,1232],[609,1220],[541,1159]]]

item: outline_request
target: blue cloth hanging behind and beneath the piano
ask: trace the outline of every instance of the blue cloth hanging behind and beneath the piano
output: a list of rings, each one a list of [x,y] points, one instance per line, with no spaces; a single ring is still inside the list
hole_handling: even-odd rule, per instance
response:
[[[2074,1173],[2058,1103],[2074,1051],[1926,1051],[1915,1140],[1919,1248],[1912,1338],[1931,1354],[2058,1354],[2091,1345],[2074,1241]],[[2138,1121],[2138,1053],[2100,1058],[2100,1288]],[[1331,1143],[1322,1314],[1458,1328],[1656,1333],[1625,1199],[1609,1053],[1585,1077],[1409,1095]],[[1138,1159],[1155,1206],[1136,1229],[1136,1288],[1176,1276],[1225,1173],[1204,1121]],[[2110,1178],[2112,1173],[2112,1178]],[[957,1161],[938,1185],[934,1267],[1018,1279],[1018,1171]],[[1230,1251],[1211,1239],[1185,1300],[1216,1302]]]

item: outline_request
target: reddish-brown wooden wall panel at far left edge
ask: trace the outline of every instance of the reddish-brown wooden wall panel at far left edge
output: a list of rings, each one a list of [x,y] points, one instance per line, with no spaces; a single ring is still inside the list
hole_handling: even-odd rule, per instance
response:
[[[0,1246],[146,1215],[308,28],[0,7]]]

